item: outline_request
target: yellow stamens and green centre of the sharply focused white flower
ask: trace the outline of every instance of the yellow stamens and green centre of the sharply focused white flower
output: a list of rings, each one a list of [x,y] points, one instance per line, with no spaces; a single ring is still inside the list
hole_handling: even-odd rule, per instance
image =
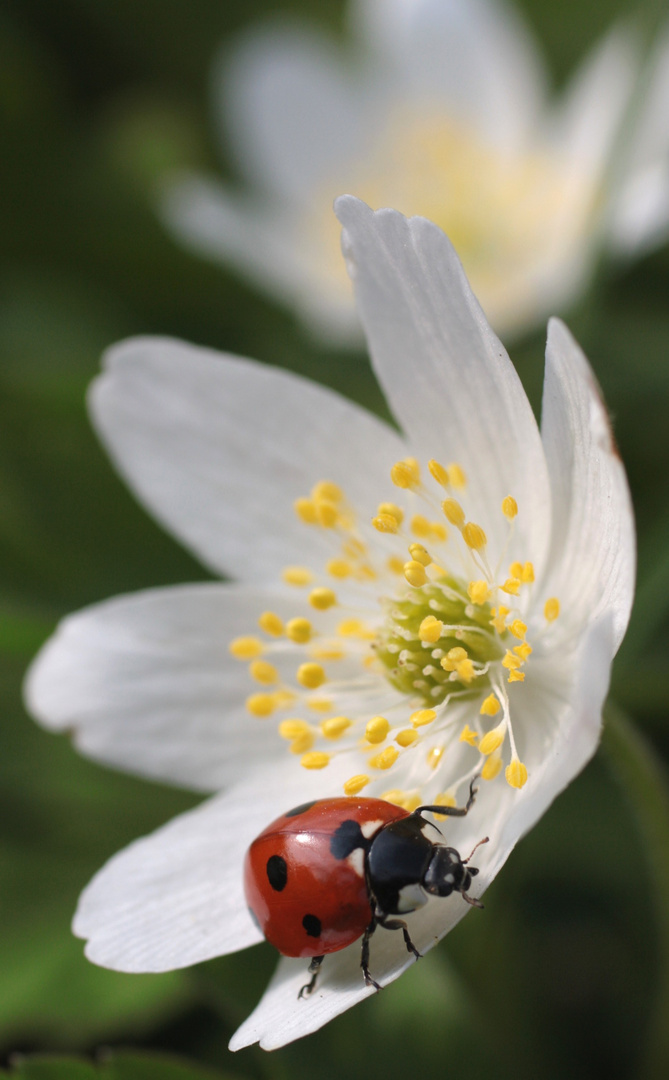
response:
[[[392,772],[401,786],[379,794],[406,808],[454,804],[472,777],[495,780],[505,757],[507,782],[523,786],[508,685],[525,679],[527,634],[550,633],[560,613],[557,597],[537,613],[532,562],[500,573],[516,500],[497,509],[507,539],[493,569],[485,531],[465,513],[463,469],[431,460],[428,471],[431,486],[415,459],[396,462],[392,483],[426,513],[382,502],[371,527],[330,481],[297,499],[297,516],[330,537],[332,557],[324,573],[286,567],[284,582],[307,591],[300,610],[265,611],[263,637],[230,644],[256,684],[247,711],[283,714],[278,733],[304,768],[346,755],[349,795]]]

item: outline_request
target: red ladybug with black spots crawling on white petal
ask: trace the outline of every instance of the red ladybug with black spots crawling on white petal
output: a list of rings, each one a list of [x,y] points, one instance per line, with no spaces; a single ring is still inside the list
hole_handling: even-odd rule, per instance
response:
[[[415,912],[430,895],[467,894],[473,851],[460,859],[445,846],[426,812],[464,818],[476,798],[473,781],[465,807],[424,806],[413,812],[383,799],[354,796],[304,802],[277,818],[253,841],[244,863],[244,892],[254,922],[283,956],[310,957],[309,995],[327,953],[362,937],[365,985],[370,939],[376,927],[401,930],[406,948],[420,954],[406,923],[394,916]]]

